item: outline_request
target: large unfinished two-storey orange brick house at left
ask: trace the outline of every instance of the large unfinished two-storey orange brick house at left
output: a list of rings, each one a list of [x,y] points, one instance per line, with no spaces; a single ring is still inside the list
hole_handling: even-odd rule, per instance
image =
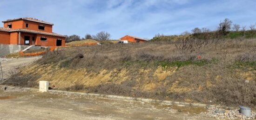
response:
[[[65,36],[54,33],[52,23],[34,18],[8,19],[0,27],[0,44],[64,46]]]

